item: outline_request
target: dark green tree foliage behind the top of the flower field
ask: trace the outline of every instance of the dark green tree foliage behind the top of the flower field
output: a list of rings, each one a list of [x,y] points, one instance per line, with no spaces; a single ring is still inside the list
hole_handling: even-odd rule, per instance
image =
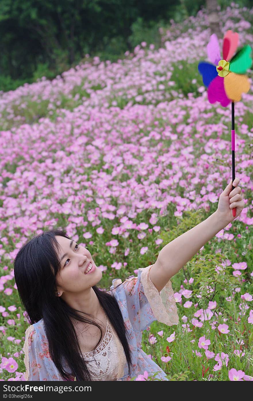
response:
[[[230,3],[218,1],[221,9]],[[205,0],[2,0],[0,90],[53,79],[85,54],[117,61],[143,40],[158,49],[160,27],[196,15],[202,6]]]

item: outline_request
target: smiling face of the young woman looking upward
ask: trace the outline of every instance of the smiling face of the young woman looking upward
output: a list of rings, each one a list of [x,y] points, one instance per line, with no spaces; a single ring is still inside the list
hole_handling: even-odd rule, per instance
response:
[[[95,265],[89,251],[75,241],[57,235],[60,245],[58,253],[61,270],[57,275],[57,288],[60,295],[79,293],[95,286],[102,277],[102,271]],[[92,270],[87,274],[87,267],[92,264]],[[86,271],[86,274],[85,274]]]

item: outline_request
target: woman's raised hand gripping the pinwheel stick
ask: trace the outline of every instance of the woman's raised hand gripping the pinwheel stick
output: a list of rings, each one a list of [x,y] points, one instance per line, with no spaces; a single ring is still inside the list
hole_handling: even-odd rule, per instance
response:
[[[243,197],[241,196],[241,188],[238,186],[239,182],[239,178],[235,178],[233,184],[235,188],[232,190],[231,180],[219,197],[217,214],[220,216],[221,220],[225,221],[227,224],[235,220],[245,207]],[[235,217],[233,216],[233,208],[236,208]]]

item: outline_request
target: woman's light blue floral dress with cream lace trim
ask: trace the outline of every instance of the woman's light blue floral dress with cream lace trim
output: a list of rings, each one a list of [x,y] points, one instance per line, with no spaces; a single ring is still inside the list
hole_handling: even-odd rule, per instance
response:
[[[162,369],[142,350],[142,332],[155,320],[168,326],[178,324],[176,300],[170,280],[159,293],[152,283],[149,270],[153,265],[138,269],[137,277],[112,280],[111,294],[115,296],[121,310],[125,326],[130,334],[129,346],[132,352],[133,369],[130,372],[125,353],[117,334],[107,321],[105,337],[94,350],[95,362],[87,358],[88,369],[93,380],[128,381],[133,377],[159,372],[156,377],[168,380]],[[118,284],[120,284],[118,286]],[[117,350],[117,352],[115,352]],[[24,363],[26,380],[63,381],[55,364],[51,360],[43,319],[32,324],[26,330],[24,342]],[[87,353],[87,357],[89,356]],[[85,354],[84,354],[85,355]],[[104,359],[103,359],[104,357]],[[103,360],[107,361],[107,366]],[[85,359],[86,360],[86,359]],[[108,360],[110,361],[108,363]],[[89,365],[90,363],[90,365]]]

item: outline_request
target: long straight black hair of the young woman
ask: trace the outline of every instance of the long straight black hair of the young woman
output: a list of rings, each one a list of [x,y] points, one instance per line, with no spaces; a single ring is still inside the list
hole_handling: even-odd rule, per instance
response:
[[[43,231],[26,242],[18,251],[14,259],[14,278],[18,294],[24,310],[27,313],[29,324],[43,318],[49,353],[63,380],[91,381],[85,360],[81,354],[79,341],[71,318],[80,322],[101,326],[92,319],[91,314],[71,308],[61,297],[57,296],[56,276],[61,270],[61,263],[57,254],[59,243],[57,235],[68,238],[65,231],[53,229]],[[107,318],[113,326],[123,346],[128,368],[131,371],[132,355],[127,337],[129,333],[119,309],[117,300],[107,290],[101,290],[97,285],[92,287]],[[80,313],[78,313],[80,312]],[[59,341],[59,333],[61,341]],[[97,347],[96,345],[96,347]],[[70,371],[63,367],[63,360],[67,362]]]

